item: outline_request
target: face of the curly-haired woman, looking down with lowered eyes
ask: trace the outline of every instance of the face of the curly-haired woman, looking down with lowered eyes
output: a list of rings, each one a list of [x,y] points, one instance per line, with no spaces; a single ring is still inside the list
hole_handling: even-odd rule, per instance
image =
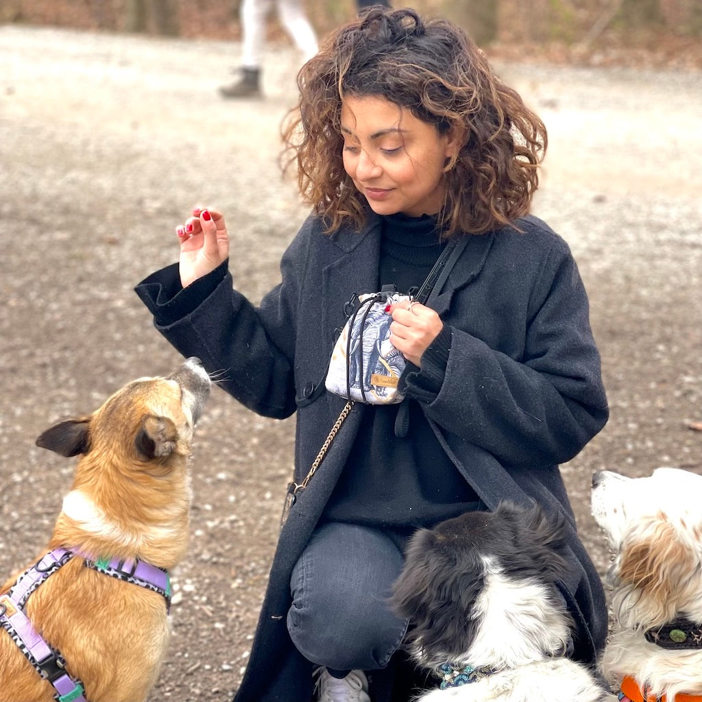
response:
[[[341,105],[346,173],[379,215],[436,214],[444,202],[444,163],[456,149],[409,110],[375,95]]]

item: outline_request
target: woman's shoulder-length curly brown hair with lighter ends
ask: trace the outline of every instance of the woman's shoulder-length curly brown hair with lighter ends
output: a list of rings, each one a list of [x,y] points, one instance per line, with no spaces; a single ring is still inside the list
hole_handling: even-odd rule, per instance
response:
[[[345,95],[373,95],[463,135],[444,168],[446,237],[482,234],[529,211],[547,144],[541,119],[494,74],[462,29],[409,8],[371,8],[333,32],[298,74],[300,99],[284,121],[284,168],[297,165],[305,201],[328,223],[360,228],[368,205],[344,170]]]

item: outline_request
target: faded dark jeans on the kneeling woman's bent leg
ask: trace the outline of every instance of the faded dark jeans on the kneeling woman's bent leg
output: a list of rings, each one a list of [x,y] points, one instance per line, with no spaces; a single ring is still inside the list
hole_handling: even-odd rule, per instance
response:
[[[407,629],[388,604],[403,562],[377,529],[329,523],[315,531],[290,580],[287,623],[298,651],[333,670],[385,667]]]

